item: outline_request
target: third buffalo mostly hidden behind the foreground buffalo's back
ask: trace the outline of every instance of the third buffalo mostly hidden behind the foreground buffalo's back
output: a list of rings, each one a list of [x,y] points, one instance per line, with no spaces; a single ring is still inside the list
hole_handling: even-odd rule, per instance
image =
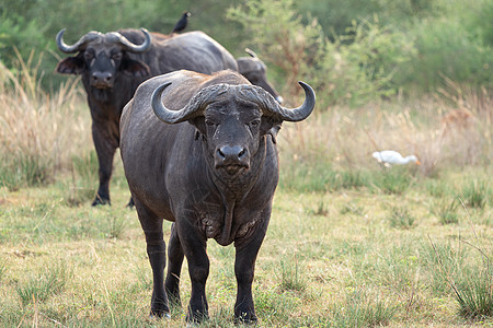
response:
[[[283,97],[267,81],[267,67],[251,49],[244,49],[250,57],[237,58],[238,71],[245,77],[250,83],[262,86],[268,91],[277,102],[283,103]]]

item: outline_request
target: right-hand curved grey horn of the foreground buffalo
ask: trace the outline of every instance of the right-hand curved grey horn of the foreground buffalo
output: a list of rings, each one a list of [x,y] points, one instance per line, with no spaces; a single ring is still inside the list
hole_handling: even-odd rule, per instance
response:
[[[276,101],[267,102],[265,109],[272,115],[287,121],[300,121],[306,119],[314,108],[316,105],[316,94],[313,89],[305,82],[299,81],[299,85],[305,90],[305,102],[301,106],[297,108],[286,108],[279,105]],[[263,91],[263,90],[262,90]],[[271,94],[265,92],[267,98],[274,99]]]

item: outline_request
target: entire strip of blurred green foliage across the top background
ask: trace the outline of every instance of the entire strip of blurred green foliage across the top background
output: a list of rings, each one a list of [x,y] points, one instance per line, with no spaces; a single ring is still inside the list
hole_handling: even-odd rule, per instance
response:
[[[288,99],[298,80],[323,90],[323,104],[352,105],[434,92],[444,78],[493,86],[493,0],[3,0],[0,60],[15,68],[14,47],[22,58],[47,52],[43,85],[57,86],[66,80],[53,74],[61,28],[68,43],[91,30],[168,33],[185,10],[187,31],[206,32],[236,57],[255,50]]]

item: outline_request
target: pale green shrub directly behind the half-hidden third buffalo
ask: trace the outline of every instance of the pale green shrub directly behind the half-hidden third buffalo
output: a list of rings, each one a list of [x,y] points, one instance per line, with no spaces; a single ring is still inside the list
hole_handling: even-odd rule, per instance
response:
[[[297,82],[311,74],[323,36],[316,20],[308,25],[301,23],[294,3],[294,0],[252,0],[227,11],[228,19],[242,25],[250,36],[250,47],[255,45],[265,61],[282,70],[284,91],[289,95],[299,94]]]

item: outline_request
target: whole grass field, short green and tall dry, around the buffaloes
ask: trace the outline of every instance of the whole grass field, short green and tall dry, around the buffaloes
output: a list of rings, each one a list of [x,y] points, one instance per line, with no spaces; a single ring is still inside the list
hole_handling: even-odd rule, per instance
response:
[[[118,156],[113,206],[90,207],[98,163],[80,90],[3,78],[19,85],[0,84],[0,326],[183,327],[185,307],[148,318],[151,269]],[[493,326],[493,102],[460,91],[284,125],[253,286],[260,327]],[[444,121],[452,110],[471,116]],[[423,165],[383,169],[379,149]],[[208,246],[203,326],[233,327],[234,249]]]

